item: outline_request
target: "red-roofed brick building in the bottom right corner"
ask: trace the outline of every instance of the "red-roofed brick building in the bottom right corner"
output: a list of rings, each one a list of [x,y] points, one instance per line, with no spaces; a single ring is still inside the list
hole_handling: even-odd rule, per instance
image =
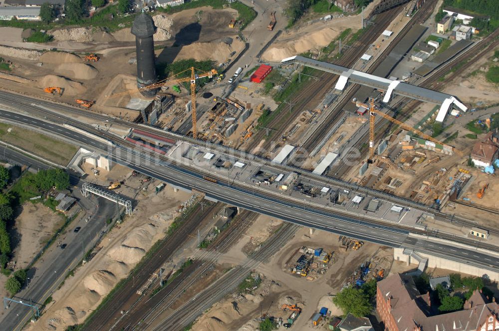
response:
[[[457,312],[431,315],[429,294],[412,277],[394,274],[378,282],[376,310],[387,331],[499,331],[499,306],[475,291]]]

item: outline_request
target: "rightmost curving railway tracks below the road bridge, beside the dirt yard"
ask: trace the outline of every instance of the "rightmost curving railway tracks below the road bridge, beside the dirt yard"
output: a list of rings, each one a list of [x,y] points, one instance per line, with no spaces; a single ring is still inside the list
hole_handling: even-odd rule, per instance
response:
[[[273,237],[267,240],[260,250],[253,253],[242,265],[227,272],[217,282],[212,284],[212,286],[179,307],[174,314],[161,321],[151,330],[182,330],[214,303],[220,301],[224,296],[234,291],[236,287],[250,275],[251,270],[272,256],[294,236],[294,233],[298,228],[298,225],[286,223]]]

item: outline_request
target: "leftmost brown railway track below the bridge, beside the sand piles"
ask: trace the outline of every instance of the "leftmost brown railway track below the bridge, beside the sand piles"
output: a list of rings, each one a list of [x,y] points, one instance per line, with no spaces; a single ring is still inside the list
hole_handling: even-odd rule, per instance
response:
[[[124,305],[130,304],[132,306],[136,301],[141,299],[139,297],[133,302],[130,301],[137,297],[137,290],[151,277],[151,274],[158,270],[164,261],[172,256],[177,248],[188,238],[188,234],[194,233],[200,224],[200,219],[211,217],[217,206],[220,207],[220,204],[209,204],[203,208],[204,210],[197,207],[193,214],[182,222],[182,225],[172,236],[163,240],[161,247],[155,253],[155,256],[161,256],[161,258],[150,257],[147,262],[140,266],[140,269],[135,273],[132,272],[123,286],[111,294],[107,302],[91,317],[83,330],[99,331],[109,329],[114,324],[114,320],[119,319],[120,311],[123,310]]]

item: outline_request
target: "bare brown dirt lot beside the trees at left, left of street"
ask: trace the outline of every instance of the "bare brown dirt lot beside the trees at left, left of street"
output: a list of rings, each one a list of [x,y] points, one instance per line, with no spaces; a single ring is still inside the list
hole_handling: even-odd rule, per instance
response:
[[[15,219],[19,244],[13,252],[12,261],[16,262],[16,269],[27,267],[36,253],[62,224],[64,224],[64,217],[61,214],[54,213],[40,203],[25,202],[22,205],[22,212]]]

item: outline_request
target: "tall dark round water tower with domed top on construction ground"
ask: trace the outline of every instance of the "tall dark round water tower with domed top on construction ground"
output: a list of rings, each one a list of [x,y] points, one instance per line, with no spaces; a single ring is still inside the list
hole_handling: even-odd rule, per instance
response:
[[[154,39],[156,26],[151,16],[142,11],[135,17],[132,25],[132,34],[135,35],[137,51],[137,87],[143,88],[158,81],[154,65]],[[158,89],[143,90],[145,97],[154,97]]]

